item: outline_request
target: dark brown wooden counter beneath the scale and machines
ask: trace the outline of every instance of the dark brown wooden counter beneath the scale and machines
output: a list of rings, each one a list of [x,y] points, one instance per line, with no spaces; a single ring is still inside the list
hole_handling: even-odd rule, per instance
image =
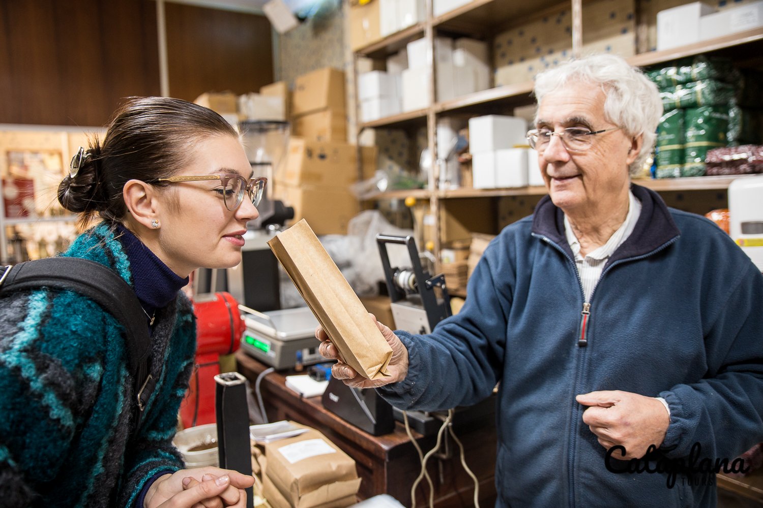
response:
[[[267,366],[252,358],[243,350],[236,353],[238,371],[250,380],[252,386],[260,372]],[[288,372],[286,373],[288,374]],[[401,423],[394,432],[385,436],[372,436],[354,427],[340,417],[324,409],[320,397],[302,398],[285,385],[285,373],[272,372],[260,384],[262,402],[269,421],[294,420],[314,427],[343,449],[357,464],[362,478],[359,497],[389,494],[405,506],[410,506],[410,487],[420,473],[420,462],[414,446]],[[495,424],[492,417],[456,427],[456,436],[465,446],[465,460],[480,481],[481,506],[493,506],[495,502]],[[417,443],[426,453],[436,436],[423,437],[413,432]],[[441,446],[441,450],[445,449]],[[430,458],[427,471],[435,486],[435,506],[474,506],[472,479],[464,471],[459,460],[459,449],[448,438],[449,458]],[[429,487],[422,480],[416,492],[418,506],[427,506]]]

